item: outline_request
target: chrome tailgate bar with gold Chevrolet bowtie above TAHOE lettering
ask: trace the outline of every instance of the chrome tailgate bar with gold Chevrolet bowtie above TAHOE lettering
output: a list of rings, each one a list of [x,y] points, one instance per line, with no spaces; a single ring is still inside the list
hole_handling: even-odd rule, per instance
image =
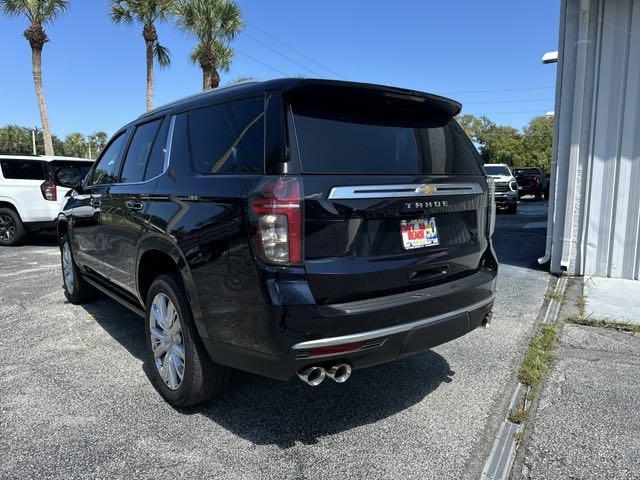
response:
[[[478,183],[423,183],[404,185],[355,185],[333,187],[329,200],[358,198],[435,197],[442,195],[477,195],[482,193]]]

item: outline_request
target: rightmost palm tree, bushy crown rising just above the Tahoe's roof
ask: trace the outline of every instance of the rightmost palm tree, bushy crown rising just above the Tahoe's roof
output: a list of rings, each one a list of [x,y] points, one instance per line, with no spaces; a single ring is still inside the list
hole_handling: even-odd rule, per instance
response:
[[[202,89],[217,88],[233,58],[229,42],[243,27],[240,8],[233,0],[177,0],[176,13],[178,26],[198,39],[191,60],[202,68]]]

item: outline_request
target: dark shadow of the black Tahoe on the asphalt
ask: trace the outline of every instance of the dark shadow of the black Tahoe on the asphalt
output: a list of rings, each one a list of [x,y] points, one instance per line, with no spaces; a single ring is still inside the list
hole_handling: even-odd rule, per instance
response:
[[[99,296],[83,305],[95,321],[132,356],[144,361],[144,320]],[[293,447],[375,423],[419,403],[452,381],[449,363],[431,350],[392,363],[355,370],[344,384],[326,379],[311,387],[234,371],[229,390],[209,404],[176,409],[203,415],[254,444]]]

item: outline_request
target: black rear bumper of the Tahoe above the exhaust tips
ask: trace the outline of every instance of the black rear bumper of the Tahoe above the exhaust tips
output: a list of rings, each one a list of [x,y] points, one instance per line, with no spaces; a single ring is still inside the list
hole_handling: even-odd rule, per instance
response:
[[[262,351],[203,338],[213,361],[288,380],[307,365],[346,361],[353,369],[396,360],[458,338],[493,308],[495,271],[436,287],[340,305],[270,306],[278,322]],[[265,333],[263,331],[262,333]],[[326,347],[354,350],[326,353]],[[320,350],[318,350],[320,349]],[[265,350],[271,350],[267,352]]]

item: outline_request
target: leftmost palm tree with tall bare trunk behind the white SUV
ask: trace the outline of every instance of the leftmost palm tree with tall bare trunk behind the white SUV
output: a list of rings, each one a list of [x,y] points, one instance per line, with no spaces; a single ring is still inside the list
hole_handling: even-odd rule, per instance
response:
[[[24,15],[30,22],[29,27],[24,31],[24,36],[31,46],[31,72],[40,109],[45,155],[53,155],[53,140],[49,130],[47,103],[42,89],[42,49],[49,41],[44,25],[64,12],[68,6],[67,0],[0,0],[0,8],[5,14]]]

